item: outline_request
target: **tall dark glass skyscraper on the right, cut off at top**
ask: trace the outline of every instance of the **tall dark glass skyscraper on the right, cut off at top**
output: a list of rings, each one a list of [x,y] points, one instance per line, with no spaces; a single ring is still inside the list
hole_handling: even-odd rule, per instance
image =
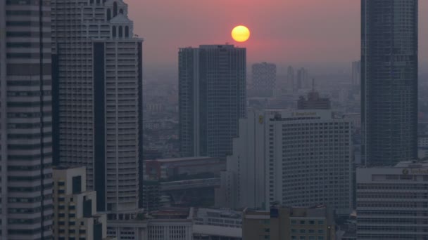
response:
[[[417,0],[363,0],[361,121],[367,166],[417,158]]]

